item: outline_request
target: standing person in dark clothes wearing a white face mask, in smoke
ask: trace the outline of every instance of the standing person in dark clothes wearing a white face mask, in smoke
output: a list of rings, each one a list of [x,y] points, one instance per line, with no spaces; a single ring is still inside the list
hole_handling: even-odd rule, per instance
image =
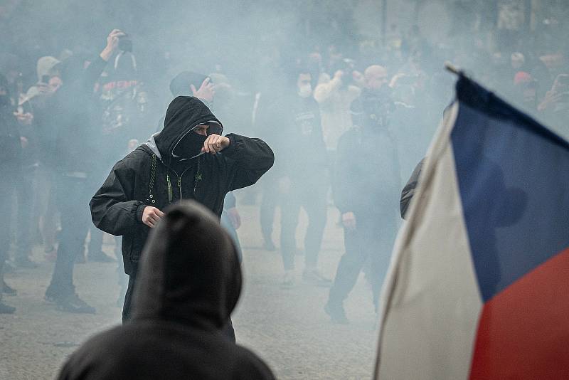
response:
[[[326,146],[322,137],[319,105],[312,97],[311,75],[298,70],[294,85],[277,98],[270,107],[274,128],[275,147],[281,157],[275,166],[280,187],[281,254],[285,269],[282,285],[294,284],[294,255],[297,250],[295,233],[300,208],[307,212],[309,223],[304,238],[303,279],[313,285],[329,286],[331,280],[317,269],[324,227],[326,226],[326,192],[328,190]],[[270,120],[262,121],[270,125]],[[303,152],[303,154],[299,154]],[[264,194],[274,196],[273,194]],[[262,218],[272,221],[272,210]],[[270,217],[266,214],[270,213]],[[271,223],[272,224],[272,223]]]

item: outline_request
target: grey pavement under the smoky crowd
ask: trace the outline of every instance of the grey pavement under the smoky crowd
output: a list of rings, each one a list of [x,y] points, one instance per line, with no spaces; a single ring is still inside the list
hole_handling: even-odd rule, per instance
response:
[[[233,323],[238,343],[252,349],[278,379],[370,379],[376,352],[376,315],[371,291],[361,275],[349,300],[348,325],[332,324],[324,313],[328,291],[302,282],[304,257],[296,256],[297,281],[284,289],[282,260],[277,251],[262,250],[258,208],[240,206],[243,226],[238,233],[244,250],[244,290]],[[338,213],[329,218],[320,255],[322,272],[334,277],[342,254],[342,230]],[[306,218],[301,215],[298,245]],[[275,223],[275,231],[278,231]],[[275,234],[278,246],[278,234]],[[112,239],[104,250],[112,254]],[[0,379],[53,379],[65,358],[92,334],[119,324],[121,309],[116,263],[75,265],[75,284],[80,297],[96,307],[96,315],[73,315],[55,310],[43,300],[53,263],[34,249],[38,268],[6,274],[6,282],[18,290],[5,297],[17,307],[14,315],[0,315]]]

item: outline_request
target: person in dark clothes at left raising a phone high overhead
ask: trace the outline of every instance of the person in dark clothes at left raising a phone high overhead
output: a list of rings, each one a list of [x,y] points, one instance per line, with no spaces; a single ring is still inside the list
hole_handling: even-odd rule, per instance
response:
[[[61,63],[63,86],[53,95],[59,112],[55,141],[56,202],[61,215],[61,233],[46,300],[66,312],[94,313],[95,309],[75,294],[73,265],[83,254],[89,227],[86,212],[93,186],[92,168],[98,157],[97,131],[90,113],[95,82],[118,46],[124,33],[115,29],[107,46],[92,60],[71,57]],[[85,164],[87,163],[87,164]]]

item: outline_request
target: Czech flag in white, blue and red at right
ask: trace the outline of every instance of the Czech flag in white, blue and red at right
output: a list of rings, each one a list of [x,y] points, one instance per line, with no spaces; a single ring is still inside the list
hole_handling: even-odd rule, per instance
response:
[[[459,75],[394,249],[376,379],[569,379],[568,142]]]

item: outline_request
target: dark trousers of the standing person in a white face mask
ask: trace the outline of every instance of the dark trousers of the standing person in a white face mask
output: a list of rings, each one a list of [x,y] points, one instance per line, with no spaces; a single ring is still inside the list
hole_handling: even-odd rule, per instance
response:
[[[295,235],[301,206],[308,215],[304,236],[304,265],[306,268],[316,267],[326,226],[326,191],[327,185],[324,182],[312,186],[293,184],[289,194],[282,196],[280,246],[285,270],[294,268],[294,254],[297,250]]]

